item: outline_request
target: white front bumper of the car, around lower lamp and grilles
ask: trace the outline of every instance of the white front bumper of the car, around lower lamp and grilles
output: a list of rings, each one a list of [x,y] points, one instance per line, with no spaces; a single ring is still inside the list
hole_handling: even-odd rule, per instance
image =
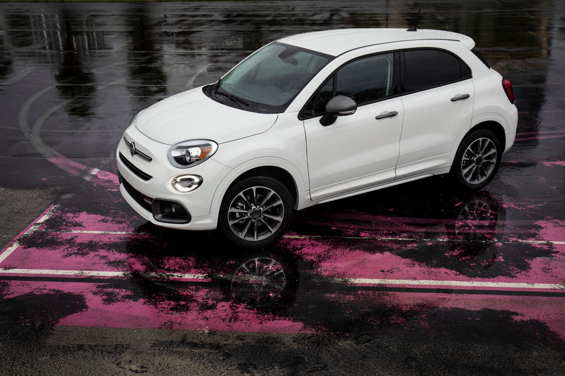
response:
[[[221,180],[232,169],[211,158],[189,169],[179,169],[168,161],[167,153],[170,145],[148,138],[133,125],[125,131],[124,136],[128,141],[135,142],[136,148],[151,158],[151,161],[148,161],[137,154],[131,156],[124,140],[120,140],[116,151],[116,163],[121,178],[131,185],[130,192],[128,192],[124,184],[120,184],[120,192],[128,204],[142,217],[159,226],[188,230],[215,229],[218,223],[218,213],[210,212],[212,198]],[[140,176],[136,169],[144,172],[149,179],[147,176]],[[177,192],[172,188],[171,181],[175,176],[183,174],[202,176],[203,182],[192,192]],[[140,196],[137,197],[137,200],[132,197],[131,188],[144,197],[145,202],[140,200]],[[153,214],[155,210],[150,209],[151,199],[179,202],[188,211],[189,222],[167,223],[158,220],[159,216],[155,218]]]

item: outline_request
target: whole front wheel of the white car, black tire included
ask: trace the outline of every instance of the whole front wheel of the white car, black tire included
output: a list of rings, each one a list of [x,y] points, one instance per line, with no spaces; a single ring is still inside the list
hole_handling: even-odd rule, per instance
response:
[[[218,224],[229,242],[247,249],[261,248],[284,235],[293,210],[292,195],[279,179],[252,175],[225,193]]]

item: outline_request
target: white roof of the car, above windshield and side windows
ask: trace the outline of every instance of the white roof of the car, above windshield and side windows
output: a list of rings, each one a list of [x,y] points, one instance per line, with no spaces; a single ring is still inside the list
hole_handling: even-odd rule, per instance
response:
[[[475,46],[473,39],[463,34],[431,29],[420,29],[416,32],[408,32],[406,29],[323,30],[281,38],[279,42],[338,56],[360,47],[421,39],[460,41],[470,50]]]

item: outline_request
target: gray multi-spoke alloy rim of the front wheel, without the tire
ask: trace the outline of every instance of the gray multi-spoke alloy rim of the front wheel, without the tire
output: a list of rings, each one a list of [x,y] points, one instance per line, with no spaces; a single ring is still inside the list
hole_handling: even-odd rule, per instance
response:
[[[248,241],[263,240],[279,229],[284,205],[275,191],[267,187],[246,188],[233,198],[228,208],[232,232]]]

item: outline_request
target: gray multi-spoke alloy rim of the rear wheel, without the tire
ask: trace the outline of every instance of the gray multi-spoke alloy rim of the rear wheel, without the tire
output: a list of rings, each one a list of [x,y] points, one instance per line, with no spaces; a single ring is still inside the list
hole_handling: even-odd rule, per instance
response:
[[[494,142],[486,137],[476,139],[469,145],[461,161],[463,178],[469,184],[483,183],[494,171],[497,149]]]

